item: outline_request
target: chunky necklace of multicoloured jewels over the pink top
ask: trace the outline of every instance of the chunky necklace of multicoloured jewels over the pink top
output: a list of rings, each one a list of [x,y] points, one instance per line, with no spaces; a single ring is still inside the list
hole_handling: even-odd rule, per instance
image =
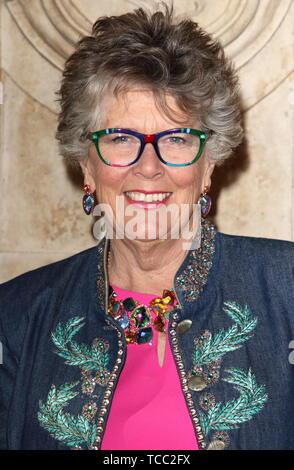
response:
[[[110,250],[108,253],[108,268]],[[148,305],[140,304],[132,297],[118,300],[117,294],[110,286],[108,314],[124,329],[127,343],[150,343],[153,328],[166,333],[165,327],[172,307],[177,305],[173,289],[164,289],[162,297],[154,297]]]

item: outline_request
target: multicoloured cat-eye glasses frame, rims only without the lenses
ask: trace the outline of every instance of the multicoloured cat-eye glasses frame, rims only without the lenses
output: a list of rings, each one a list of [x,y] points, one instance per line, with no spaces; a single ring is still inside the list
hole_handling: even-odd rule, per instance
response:
[[[106,160],[104,160],[104,158],[102,157],[102,155],[100,153],[100,150],[99,150],[99,144],[98,144],[99,137],[101,137],[105,134],[112,134],[112,133],[122,133],[122,134],[132,135],[132,136],[137,137],[140,140],[141,147],[139,149],[138,155],[131,163],[128,163],[126,165],[109,163]],[[158,148],[158,140],[161,137],[163,137],[164,135],[169,135],[169,134],[174,134],[174,133],[178,133],[178,134],[179,133],[187,133],[187,134],[197,135],[199,137],[198,152],[195,155],[195,157],[193,158],[193,160],[191,160],[189,163],[168,163],[161,157],[160,151],[159,151],[159,148]],[[90,132],[84,138],[87,139],[87,140],[91,140],[95,144],[98,156],[99,156],[100,160],[102,160],[102,162],[105,163],[105,165],[115,166],[115,167],[126,167],[126,166],[134,165],[139,160],[139,158],[141,157],[141,155],[144,151],[145,145],[150,143],[150,144],[153,145],[154,150],[155,150],[156,155],[159,158],[159,160],[162,163],[164,163],[165,165],[168,165],[168,166],[188,166],[188,165],[192,165],[193,163],[195,163],[198,160],[198,158],[200,157],[200,155],[202,153],[205,142],[210,138],[211,135],[212,135],[212,131],[204,132],[204,131],[199,131],[198,129],[191,129],[189,127],[169,129],[167,131],[158,132],[157,134],[141,134],[140,132],[131,131],[129,129],[109,128],[109,129],[102,129],[101,131]]]

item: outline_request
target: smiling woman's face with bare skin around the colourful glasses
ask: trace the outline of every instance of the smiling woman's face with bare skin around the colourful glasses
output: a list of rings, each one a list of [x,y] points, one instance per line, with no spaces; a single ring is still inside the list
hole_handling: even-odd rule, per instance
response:
[[[116,127],[143,134],[155,134],[177,127],[199,129],[199,124],[183,115],[175,99],[170,95],[167,96],[167,104],[174,111],[177,121],[171,120],[158,110],[153,93],[149,90],[130,90],[117,98],[107,97],[99,129]],[[180,126],[179,119],[183,122]],[[117,223],[117,227],[123,225],[127,233],[135,231],[135,238],[142,241],[169,238],[175,220],[169,215],[165,217],[167,233],[162,236],[163,224],[160,219],[160,213],[163,214],[165,211],[165,214],[168,214],[168,208],[175,213],[175,208],[181,208],[184,204],[189,207],[189,216],[191,216],[192,204],[197,203],[205,186],[210,187],[210,177],[214,168],[214,165],[207,161],[205,150],[192,165],[167,166],[158,159],[151,143],[145,145],[137,163],[123,168],[103,163],[97,155],[95,146],[91,144],[88,158],[81,163],[81,166],[85,183],[90,185],[91,192],[96,191],[98,203],[107,204],[111,208],[113,223]],[[160,194],[159,199],[162,197],[164,199],[161,202],[154,201],[152,194],[155,193],[162,193],[163,196]],[[149,194],[149,201],[146,201],[146,194]],[[145,199],[134,202],[134,199],[138,199],[138,195],[141,195],[141,199],[143,197]],[[123,215],[117,205],[118,196],[125,208]],[[156,212],[158,216],[155,216]],[[135,223],[136,221],[138,223]]]

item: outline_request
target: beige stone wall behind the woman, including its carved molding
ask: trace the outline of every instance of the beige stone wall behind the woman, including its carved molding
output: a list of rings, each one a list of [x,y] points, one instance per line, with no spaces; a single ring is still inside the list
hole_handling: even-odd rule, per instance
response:
[[[73,43],[103,14],[147,1],[1,3],[0,281],[93,246],[82,179],[58,156],[58,88]],[[246,142],[213,178],[213,220],[233,234],[294,239],[294,3],[175,0],[218,37],[240,74]]]

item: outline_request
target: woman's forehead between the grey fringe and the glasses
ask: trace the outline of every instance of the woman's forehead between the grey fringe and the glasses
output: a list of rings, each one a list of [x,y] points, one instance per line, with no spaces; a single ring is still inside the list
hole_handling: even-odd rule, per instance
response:
[[[117,95],[107,92],[101,102],[102,122],[105,127],[119,127],[127,121],[143,120],[150,124],[161,123],[164,127],[176,127],[176,124],[191,126],[191,117],[179,108],[171,94],[165,93],[164,102],[168,111],[163,109],[153,91],[147,88],[127,89]]]

